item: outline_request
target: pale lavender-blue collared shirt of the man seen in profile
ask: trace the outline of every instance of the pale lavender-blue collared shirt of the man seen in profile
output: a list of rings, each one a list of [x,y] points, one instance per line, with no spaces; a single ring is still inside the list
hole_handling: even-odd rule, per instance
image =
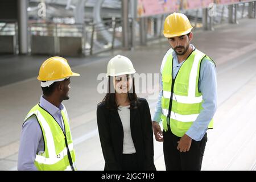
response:
[[[55,118],[57,123],[59,123],[61,129],[64,129],[63,119],[61,117],[61,110],[64,109],[64,105],[60,104],[59,107],[51,104],[47,100],[40,97],[39,105],[43,107],[49,114]],[[18,155],[18,170],[19,171],[36,171],[35,158],[38,152],[44,151],[44,140],[42,135],[42,130],[35,117],[32,115],[30,118],[24,122],[22,126],[22,133],[19,142],[19,155]]]

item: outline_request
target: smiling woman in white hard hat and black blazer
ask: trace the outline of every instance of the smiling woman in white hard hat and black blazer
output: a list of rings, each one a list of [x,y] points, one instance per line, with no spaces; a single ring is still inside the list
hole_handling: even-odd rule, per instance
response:
[[[108,63],[108,93],[97,108],[105,170],[155,170],[150,109],[135,94],[134,73],[125,56]]]

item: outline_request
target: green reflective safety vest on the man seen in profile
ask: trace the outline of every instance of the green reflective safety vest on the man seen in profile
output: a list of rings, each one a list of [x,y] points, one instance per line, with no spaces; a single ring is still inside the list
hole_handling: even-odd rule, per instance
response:
[[[61,171],[61,170],[76,170],[75,165],[75,150],[71,131],[68,123],[67,111],[64,107],[61,110],[65,126],[65,134],[57,121],[46,110],[35,105],[27,114],[24,122],[31,115],[35,115],[38,119],[44,139],[43,154],[36,154],[35,166],[40,171]]]

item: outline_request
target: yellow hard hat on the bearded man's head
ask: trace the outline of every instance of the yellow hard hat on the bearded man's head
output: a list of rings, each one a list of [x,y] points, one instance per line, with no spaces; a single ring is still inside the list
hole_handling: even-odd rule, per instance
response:
[[[186,15],[182,13],[172,13],[164,20],[163,34],[166,38],[186,35],[192,30],[192,26]]]

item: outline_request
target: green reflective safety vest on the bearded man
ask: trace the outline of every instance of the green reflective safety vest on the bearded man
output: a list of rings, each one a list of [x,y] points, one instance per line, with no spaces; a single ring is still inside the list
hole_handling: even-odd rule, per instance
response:
[[[204,101],[198,89],[198,82],[200,65],[204,57],[209,58],[195,49],[181,65],[175,78],[172,78],[172,52],[167,56],[166,63],[163,65],[161,119],[164,131],[167,131],[170,125],[172,133],[177,137],[183,137],[203,109]],[[212,128],[213,119],[208,125],[208,129]]]

